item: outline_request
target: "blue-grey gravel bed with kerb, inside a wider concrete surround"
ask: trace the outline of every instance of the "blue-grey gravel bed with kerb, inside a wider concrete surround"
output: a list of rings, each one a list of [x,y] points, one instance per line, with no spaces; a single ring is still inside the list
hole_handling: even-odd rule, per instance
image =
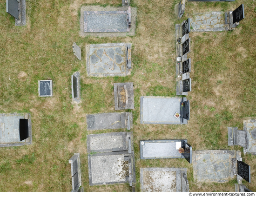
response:
[[[84,32],[130,32],[128,10],[85,11]]]

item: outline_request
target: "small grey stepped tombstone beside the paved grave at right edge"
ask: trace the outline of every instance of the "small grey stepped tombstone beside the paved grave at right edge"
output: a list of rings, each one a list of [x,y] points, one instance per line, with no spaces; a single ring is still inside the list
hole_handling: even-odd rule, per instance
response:
[[[228,127],[229,146],[240,145],[243,148],[248,148],[247,132],[238,130],[237,127]]]

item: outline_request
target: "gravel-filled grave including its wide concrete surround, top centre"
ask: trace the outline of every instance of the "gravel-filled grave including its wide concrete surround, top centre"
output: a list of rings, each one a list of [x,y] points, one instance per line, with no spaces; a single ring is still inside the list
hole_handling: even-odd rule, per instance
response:
[[[80,17],[80,36],[135,35],[136,13],[135,7],[83,6]]]

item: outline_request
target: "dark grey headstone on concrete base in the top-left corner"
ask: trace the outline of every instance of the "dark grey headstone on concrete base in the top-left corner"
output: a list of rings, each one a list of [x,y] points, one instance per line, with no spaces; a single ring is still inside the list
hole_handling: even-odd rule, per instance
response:
[[[26,25],[26,0],[6,0],[6,12],[15,18],[15,26]]]

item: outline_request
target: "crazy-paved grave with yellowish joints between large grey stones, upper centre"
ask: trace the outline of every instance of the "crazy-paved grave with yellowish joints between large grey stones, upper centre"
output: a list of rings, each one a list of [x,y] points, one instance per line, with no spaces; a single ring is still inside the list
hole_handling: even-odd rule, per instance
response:
[[[88,76],[113,77],[131,74],[131,44],[89,45],[86,50]]]

